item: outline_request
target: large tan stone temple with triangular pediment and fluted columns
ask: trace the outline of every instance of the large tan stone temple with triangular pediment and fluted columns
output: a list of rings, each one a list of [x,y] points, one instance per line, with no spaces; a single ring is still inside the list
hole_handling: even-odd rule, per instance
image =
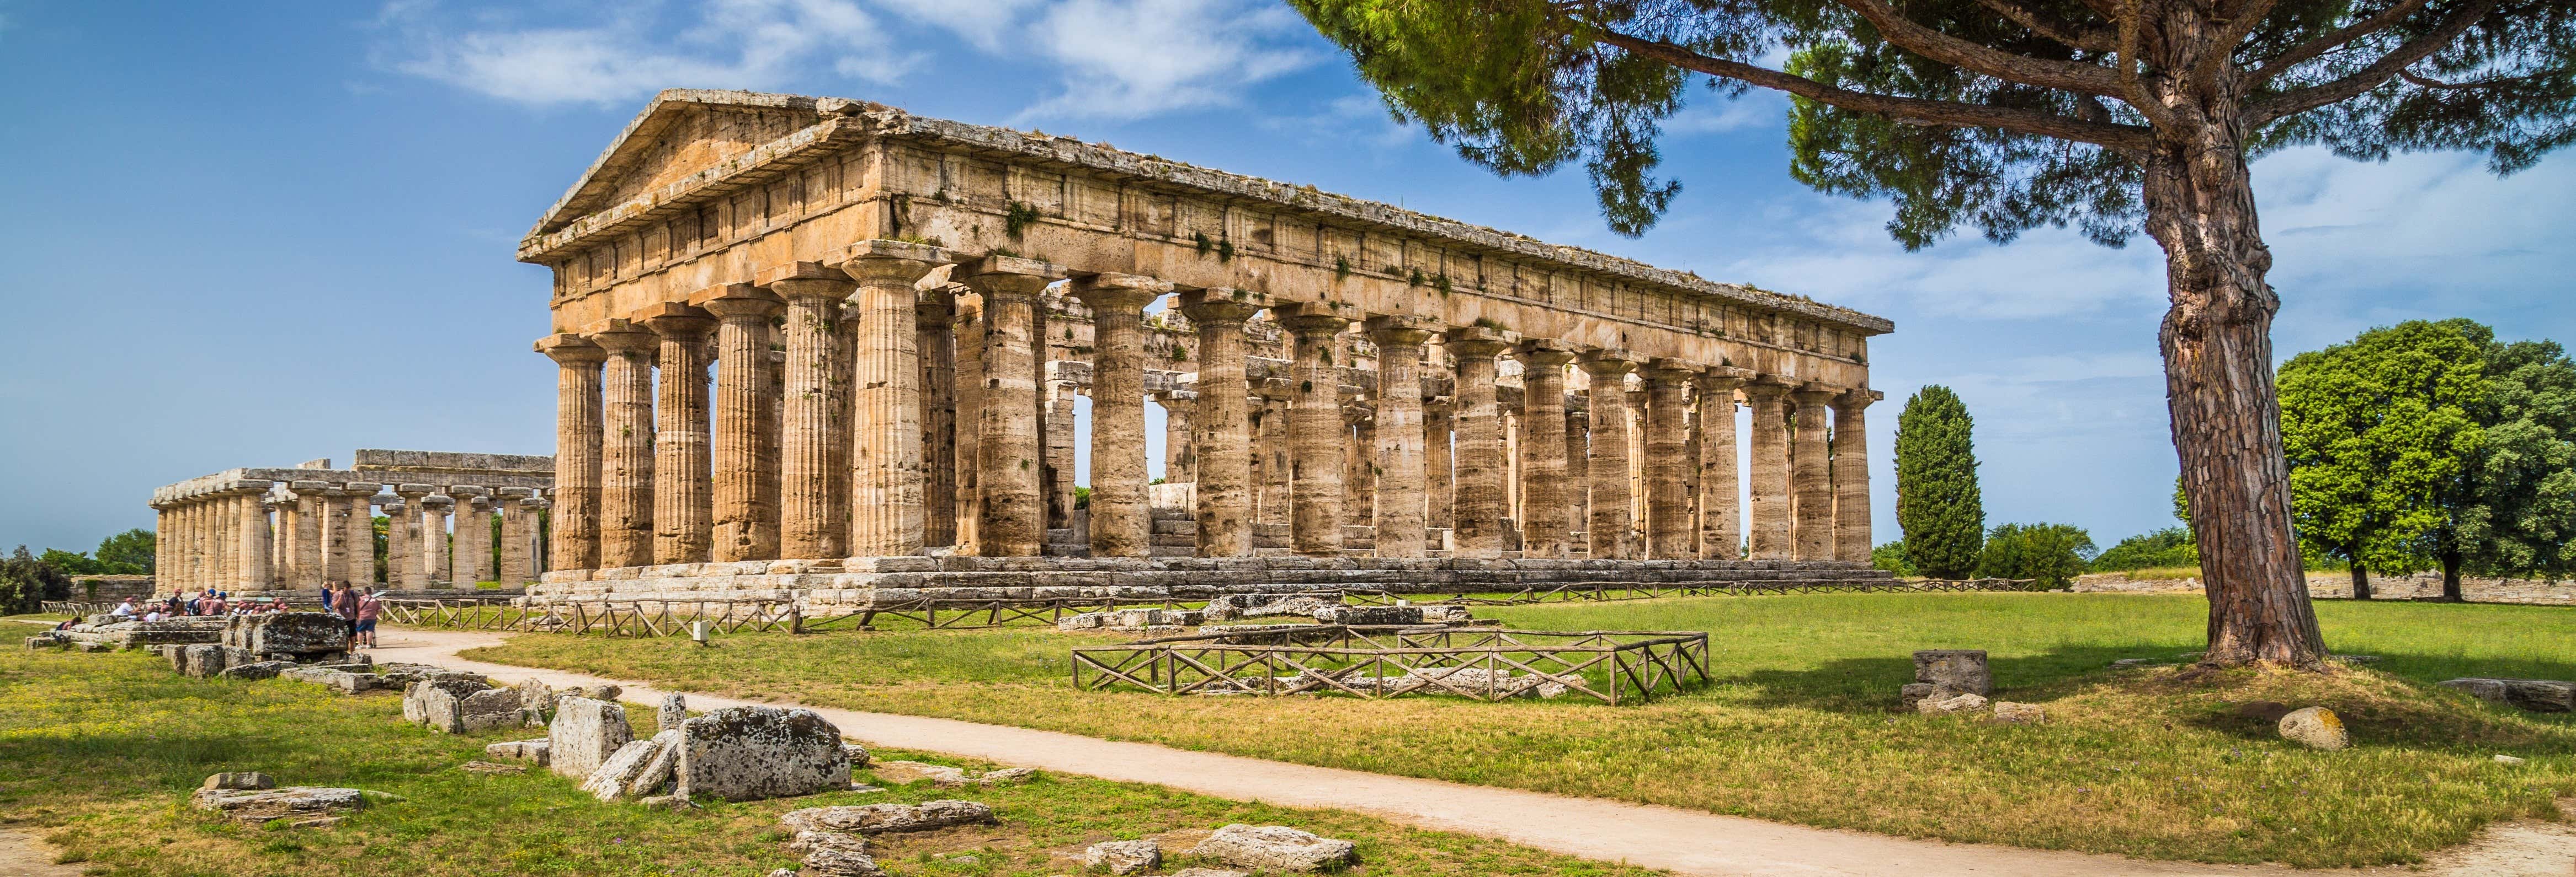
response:
[[[1801,296],[714,90],[654,98],[518,257],[554,270],[538,597],[1878,576],[1862,411],[1893,327]]]

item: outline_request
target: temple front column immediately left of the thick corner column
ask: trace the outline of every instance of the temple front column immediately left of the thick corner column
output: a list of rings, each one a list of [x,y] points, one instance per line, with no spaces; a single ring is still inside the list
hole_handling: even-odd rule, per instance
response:
[[[819,262],[788,262],[760,273],[760,285],[786,298],[788,373],[778,435],[778,556],[791,561],[842,558],[850,535],[840,507],[848,473],[835,450],[850,442],[850,393],[840,342],[840,303],[858,283]]]

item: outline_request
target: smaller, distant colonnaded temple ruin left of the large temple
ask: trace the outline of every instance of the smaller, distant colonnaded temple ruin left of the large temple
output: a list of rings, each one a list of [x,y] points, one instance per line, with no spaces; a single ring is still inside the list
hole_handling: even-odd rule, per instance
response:
[[[152,491],[155,589],[526,586],[544,574],[538,545],[551,489],[554,458],[502,453],[361,448],[353,468],[332,468],[327,458],[227,468]],[[381,550],[376,509],[386,517]]]

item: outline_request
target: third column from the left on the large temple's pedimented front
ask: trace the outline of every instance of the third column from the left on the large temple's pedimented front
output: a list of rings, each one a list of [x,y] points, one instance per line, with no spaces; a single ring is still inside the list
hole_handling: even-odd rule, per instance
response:
[[[652,440],[652,561],[706,563],[716,540],[714,435],[706,409],[706,360],[716,316],[662,301],[636,316],[659,339]]]

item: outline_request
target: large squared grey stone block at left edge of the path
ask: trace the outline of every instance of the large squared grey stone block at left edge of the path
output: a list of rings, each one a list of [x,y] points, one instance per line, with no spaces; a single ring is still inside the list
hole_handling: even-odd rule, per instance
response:
[[[680,723],[677,782],[724,800],[848,790],[850,754],[814,710],[724,707]]]

